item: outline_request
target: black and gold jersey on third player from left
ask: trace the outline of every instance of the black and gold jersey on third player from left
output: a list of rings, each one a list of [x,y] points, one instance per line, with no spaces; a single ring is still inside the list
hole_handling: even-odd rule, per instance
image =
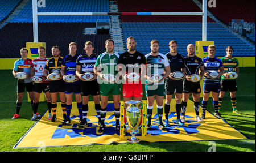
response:
[[[46,61],[46,66],[44,68],[46,68],[46,70],[49,70],[49,74],[51,74],[52,72],[56,72],[56,73],[60,73],[60,69],[61,69],[61,63],[62,63],[63,57],[59,57],[59,58],[49,58],[48,61]]]

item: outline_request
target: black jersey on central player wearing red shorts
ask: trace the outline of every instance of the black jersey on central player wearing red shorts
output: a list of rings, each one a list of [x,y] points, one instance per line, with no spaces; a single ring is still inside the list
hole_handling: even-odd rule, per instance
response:
[[[132,72],[141,73],[141,64],[146,64],[146,57],[144,54],[136,51],[134,54],[125,52],[119,56],[118,64],[123,64],[126,67],[126,73],[130,70]],[[131,72],[129,72],[131,73]]]

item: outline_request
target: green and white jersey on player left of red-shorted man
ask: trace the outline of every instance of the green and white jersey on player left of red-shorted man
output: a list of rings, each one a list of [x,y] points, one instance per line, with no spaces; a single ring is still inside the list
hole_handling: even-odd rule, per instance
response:
[[[114,52],[112,55],[104,52],[100,54],[97,58],[95,66],[97,68],[102,68],[102,74],[113,74],[116,75],[118,73],[117,66],[118,64],[119,53]]]

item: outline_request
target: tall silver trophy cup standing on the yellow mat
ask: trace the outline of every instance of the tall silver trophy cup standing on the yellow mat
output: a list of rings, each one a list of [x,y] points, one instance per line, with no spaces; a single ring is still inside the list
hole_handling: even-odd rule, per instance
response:
[[[127,141],[131,143],[138,143],[139,139],[135,138],[135,134],[138,132],[137,129],[139,128],[139,122],[141,122],[142,117],[142,102],[130,100],[125,102],[125,109],[126,109],[126,121],[127,125],[130,127],[131,130],[131,138],[127,139]]]

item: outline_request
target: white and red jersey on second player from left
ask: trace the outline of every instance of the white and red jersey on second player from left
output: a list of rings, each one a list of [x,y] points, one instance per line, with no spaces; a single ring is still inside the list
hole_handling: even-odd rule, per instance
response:
[[[44,76],[44,67],[46,66],[46,61],[48,61],[48,58],[40,59],[35,58],[33,59],[33,68],[35,69],[35,75],[36,76]],[[45,80],[43,83],[49,83],[49,80]]]

